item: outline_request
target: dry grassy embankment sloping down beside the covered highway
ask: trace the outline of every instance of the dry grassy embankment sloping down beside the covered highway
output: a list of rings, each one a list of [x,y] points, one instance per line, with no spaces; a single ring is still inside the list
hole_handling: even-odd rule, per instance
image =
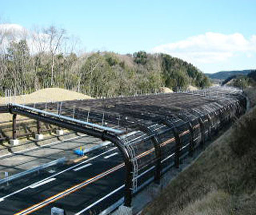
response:
[[[256,214],[256,107],[170,182],[143,213]]]

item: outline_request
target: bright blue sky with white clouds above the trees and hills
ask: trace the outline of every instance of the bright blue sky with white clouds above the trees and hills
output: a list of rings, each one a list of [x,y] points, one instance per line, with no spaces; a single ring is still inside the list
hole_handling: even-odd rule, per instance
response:
[[[256,69],[255,9],[255,0],[0,0],[0,22],[54,24],[87,52],[162,52],[215,73]]]

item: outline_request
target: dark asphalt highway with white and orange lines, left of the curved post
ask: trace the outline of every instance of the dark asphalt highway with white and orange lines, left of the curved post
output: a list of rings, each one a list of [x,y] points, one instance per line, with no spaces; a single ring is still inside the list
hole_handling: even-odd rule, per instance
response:
[[[2,188],[1,214],[50,214],[54,206],[66,209],[67,214],[98,213],[122,198],[123,167],[118,149],[95,150],[78,164],[62,166],[55,173],[44,171]],[[115,195],[104,198],[115,189]],[[102,198],[104,201],[90,207]]]

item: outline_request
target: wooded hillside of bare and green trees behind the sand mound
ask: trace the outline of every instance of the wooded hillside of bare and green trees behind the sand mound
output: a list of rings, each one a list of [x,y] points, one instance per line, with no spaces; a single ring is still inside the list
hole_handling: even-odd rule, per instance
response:
[[[76,52],[66,31],[55,26],[36,35],[17,38],[15,34],[0,29],[1,95],[5,89],[24,94],[60,87],[99,97],[210,85],[191,63],[166,54]]]

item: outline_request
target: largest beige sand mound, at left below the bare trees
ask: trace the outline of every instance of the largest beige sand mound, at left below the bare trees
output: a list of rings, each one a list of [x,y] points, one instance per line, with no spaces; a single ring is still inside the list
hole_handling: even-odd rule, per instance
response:
[[[91,97],[61,88],[45,88],[27,95],[12,96],[12,102],[15,103],[59,102],[77,99],[91,99]],[[0,98],[0,103],[5,103],[5,98]]]

